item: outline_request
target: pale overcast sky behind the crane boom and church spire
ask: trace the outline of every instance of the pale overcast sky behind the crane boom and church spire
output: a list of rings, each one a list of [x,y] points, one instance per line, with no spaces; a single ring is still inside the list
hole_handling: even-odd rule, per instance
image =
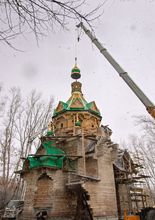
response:
[[[99,41],[155,102],[155,1],[108,0],[94,30]],[[69,31],[50,33],[39,47],[32,36],[16,40],[16,46],[24,52],[0,44],[0,81],[5,88],[20,86],[24,93],[36,88],[43,97],[53,95],[55,104],[67,101],[77,47],[85,99],[96,102],[102,124],[113,130],[113,140],[119,142],[130,134],[139,134],[134,116],[147,115],[145,107],[89,38],[81,34],[79,43],[76,38],[72,23]]]

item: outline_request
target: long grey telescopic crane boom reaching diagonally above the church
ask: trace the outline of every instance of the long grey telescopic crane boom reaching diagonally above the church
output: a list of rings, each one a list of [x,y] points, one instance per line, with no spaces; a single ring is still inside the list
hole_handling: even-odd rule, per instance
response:
[[[116,60],[111,56],[111,54],[107,51],[105,47],[98,41],[95,35],[92,34],[90,30],[88,30],[83,23],[77,25],[77,27],[81,27],[86,35],[91,39],[91,41],[95,44],[95,46],[99,49],[102,55],[108,60],[108,62],[113,66],[113,68],[118,72],[119,76],[126,82],[126,84],[131,88],[134,94],[140,99],[140,101],[144,104],[149,114],[155,119],[155,106],[149,100],[149,98],[143,93],[143,91],[136,85],[136,83],[132,80],[132,78],[128,75],[128,73],[116,62]]]

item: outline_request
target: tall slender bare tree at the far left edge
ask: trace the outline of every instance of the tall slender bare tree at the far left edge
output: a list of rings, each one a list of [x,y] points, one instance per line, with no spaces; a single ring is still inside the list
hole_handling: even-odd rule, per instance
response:
[[[11,89],[8,97],[8,110],[3,117],[3,124],[1,128],[0,146],[1,146],[1,167],[2,167],[2,204],[5,202],[7,188],[9,186],[9,179],[11,176],[11,155],[13,152],[14,139],[14,123],[20,106],[20,93],[16,89]]]

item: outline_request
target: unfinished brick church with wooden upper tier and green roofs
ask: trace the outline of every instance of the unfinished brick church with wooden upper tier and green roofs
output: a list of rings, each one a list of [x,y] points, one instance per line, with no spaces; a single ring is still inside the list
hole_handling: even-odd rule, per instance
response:
[[[71,76],[75,81],[70,98],[58,103],[40,147],[24,162],[23,220],[39,215],[54,220],[118,219],[113,169],[117,144],[108,126],[101,125],[96,103],[85,100],[77,66]]]

